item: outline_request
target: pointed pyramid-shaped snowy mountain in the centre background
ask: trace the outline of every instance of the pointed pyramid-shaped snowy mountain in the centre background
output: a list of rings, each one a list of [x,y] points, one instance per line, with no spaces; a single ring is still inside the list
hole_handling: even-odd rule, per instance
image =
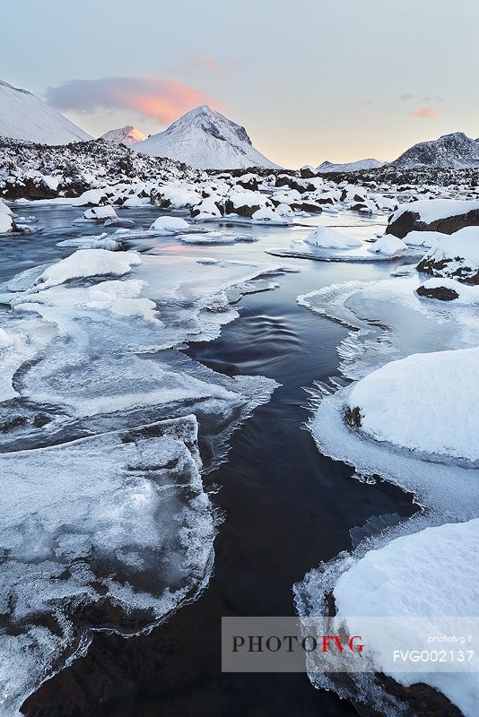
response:
[[[206,105],[187,112],[135,149],[200,169],[280,168],[253,147],[244,127]]]

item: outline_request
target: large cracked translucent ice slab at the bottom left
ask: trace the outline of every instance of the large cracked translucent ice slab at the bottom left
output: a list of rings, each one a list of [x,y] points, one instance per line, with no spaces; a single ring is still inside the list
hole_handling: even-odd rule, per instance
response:
[[[91,628],[138,632],[207,582],[215,529],[196,437],[187,416],[0,457],[0,714]]]

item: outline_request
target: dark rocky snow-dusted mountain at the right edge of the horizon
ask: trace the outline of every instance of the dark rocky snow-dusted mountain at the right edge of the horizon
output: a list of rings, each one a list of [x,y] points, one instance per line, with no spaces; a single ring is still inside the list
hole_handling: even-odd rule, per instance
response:
[[[414,144],[392,162],[395,167],[479,167],[479,141],[464,132],[444,134],[438,140]]]

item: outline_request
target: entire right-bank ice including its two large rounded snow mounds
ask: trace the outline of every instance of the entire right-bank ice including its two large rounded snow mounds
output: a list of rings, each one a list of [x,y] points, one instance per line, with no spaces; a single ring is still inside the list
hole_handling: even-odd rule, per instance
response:
[[[339,616],[359,616],[352,634],[361,616],[454,618],[476,616],[479,609],[477,315],[472,300],[420,298],[421,281],[416,272],[405,272],[299,298],[302,306],[351,329],[338,348],[341,376],[318,385],[314,396],[309,428],[318,449],[352,465],[355,477],[380,476],[422,505],[422,513],[373,533],[294,586],[301,616],[330,614],[334,599]],[[395,643],[384,633],[370,639],[379,650],[377,673],[386,671],[403,687],[421,682],[438,688],[467,717],[475,715],[476,673],[391,671],[381,649],[400,649],[399,638]],[[342,679],[311,671],[310,679],[381,714],[407,713],[407,690],[391,691],[377,673]]]

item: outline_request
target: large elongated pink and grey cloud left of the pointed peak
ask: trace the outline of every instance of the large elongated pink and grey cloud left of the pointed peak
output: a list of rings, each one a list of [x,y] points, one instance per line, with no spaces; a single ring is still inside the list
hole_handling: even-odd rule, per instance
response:
[[[202,90],[165,77],[105,77],[70,80],[49,87],[47,100],[63,111],[94,113],[100,109],[133,110],[169,125],[198,105],[215,105]]]

